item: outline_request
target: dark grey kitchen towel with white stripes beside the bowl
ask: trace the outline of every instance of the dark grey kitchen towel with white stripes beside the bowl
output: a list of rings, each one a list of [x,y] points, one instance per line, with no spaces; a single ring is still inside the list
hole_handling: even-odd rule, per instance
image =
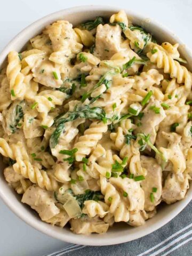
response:
[[[69,245],[47,256],[191,256],[192,201],[172,221],[137,240],[110,246]]]

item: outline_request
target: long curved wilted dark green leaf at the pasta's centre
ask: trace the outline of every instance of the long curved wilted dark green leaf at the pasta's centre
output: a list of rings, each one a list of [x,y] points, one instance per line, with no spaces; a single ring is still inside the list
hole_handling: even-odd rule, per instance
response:
[[[88,105],[76,107],[74,111],[68,111],[67,113],[59,116],[59,118],[57,118],[57,120],[55,120],[54,122],[56,129],[51,134],[50,147],[54,148],[58,144],[59,137],[65,129],[65,123],[74,121],[78,117],[86,118],[86,119],[102,120],[102,118],[105,116],[106,116],[106,113],[102,108],[99,108],[99,107],[90,108],[90,106]]]

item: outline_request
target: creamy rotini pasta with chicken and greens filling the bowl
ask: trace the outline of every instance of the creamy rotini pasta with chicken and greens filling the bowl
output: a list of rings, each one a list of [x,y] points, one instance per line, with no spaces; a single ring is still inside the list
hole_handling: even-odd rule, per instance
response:
[[[59,18],[9,51],[0,74],[4,177],[54,226],[46,229],[101,234],[126,222],[124,233],[137,232],[159,204],[188,195],[192,74],[178,43],[159,41],[125,11],[93,18]]]

